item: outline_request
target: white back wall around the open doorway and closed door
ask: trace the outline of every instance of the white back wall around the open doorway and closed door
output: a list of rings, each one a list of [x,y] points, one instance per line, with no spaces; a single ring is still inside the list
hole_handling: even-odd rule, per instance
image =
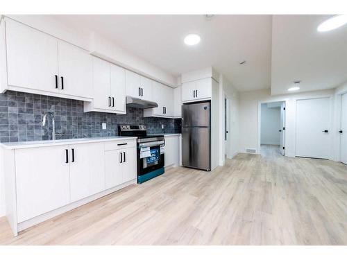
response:
[[[316,92],[305,92],[298,94],[287,94],[271,96],[270,89],[260,89],[251,92],[239,93],[239,153],[245,153],[246,148],[258,148],[258,122],[260,121],[260,103],[286,101],[286,155],[295,156],[295,128],[296,128],[296,99],[318,98],[321,96],[332,97],[332,133],[335,131],[333,125],[334,111],[334,89],[326,89]],[[259,136],[260,137],[260,136]],[[258,150],[258,149],[257,149]],[[330,147],[333,150],[333,144]],[[259,151],[257,151],[259,152]],[[331,157],[332,159],[332,157]]]

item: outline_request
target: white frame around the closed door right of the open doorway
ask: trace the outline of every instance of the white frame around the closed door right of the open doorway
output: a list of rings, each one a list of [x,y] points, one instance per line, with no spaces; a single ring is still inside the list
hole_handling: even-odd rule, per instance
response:
[[[329,122],[329,131],[330,132],[335,132],[335,127],[334,127],[334,103],[332,100],[332,95],[319,95],[319,96],[314,96],[310,98],[295,98],[295,104],[294,104],[294,118],[295,118],[295,129],[294,129],[294,157],[296,157],[296,130],[297,130],[297,120],[296,120],[296,103],[297,101],[304,101],[304,100],[311,100],[311,99],[321,99],[321,98],[329,98],[329,112],[330,112],[330,122]],[[341,100],[340,100],[341,102]],[[332,155],[333,151],[333,138],[332,135],[330,135],[330,146],[329,146],[329,155],[327,159],[333,159]]]

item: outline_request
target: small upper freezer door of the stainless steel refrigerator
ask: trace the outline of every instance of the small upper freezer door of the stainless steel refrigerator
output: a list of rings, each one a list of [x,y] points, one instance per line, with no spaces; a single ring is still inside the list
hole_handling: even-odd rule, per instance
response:
[[[183,127],[209,126],[210,102],[184,104],[182,106]]]

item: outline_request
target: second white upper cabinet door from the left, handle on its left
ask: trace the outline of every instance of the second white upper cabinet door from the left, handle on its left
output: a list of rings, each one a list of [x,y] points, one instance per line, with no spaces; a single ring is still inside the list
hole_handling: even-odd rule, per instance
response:
[[[92,98],[92,55],[67,42],[58,42],[59,92]]]

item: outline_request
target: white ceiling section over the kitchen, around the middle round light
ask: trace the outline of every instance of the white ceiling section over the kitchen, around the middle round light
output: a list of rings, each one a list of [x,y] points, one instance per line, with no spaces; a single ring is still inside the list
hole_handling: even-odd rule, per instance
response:
[[[270,87],[271,15],[56,15],[114,40],[130,53],[178,76],[212,66],[237,89]],[[186,46],[189,33],[200,44]],[[246,60],[246,64],[239,62]]]

